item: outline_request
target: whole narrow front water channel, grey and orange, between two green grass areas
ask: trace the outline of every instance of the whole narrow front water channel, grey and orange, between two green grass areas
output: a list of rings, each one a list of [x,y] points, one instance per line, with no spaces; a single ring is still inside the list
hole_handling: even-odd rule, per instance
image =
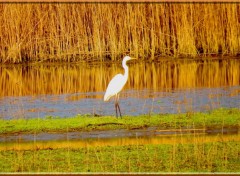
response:
[[[0,137],[1,150],[36,150],[145,144],[185,144],[240,141],[239,129],[112,130],[70,133],[16,134]]]

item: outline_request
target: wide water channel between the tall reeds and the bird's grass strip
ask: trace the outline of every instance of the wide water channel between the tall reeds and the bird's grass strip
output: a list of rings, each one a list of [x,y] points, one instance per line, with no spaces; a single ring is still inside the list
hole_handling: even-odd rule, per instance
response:
[[[122,92],[123,114],[178,113],[240,108],[240,60],[132,62]],[[121,62],[29,64],[0,67],[0,117],[114,115],[103,102]]]

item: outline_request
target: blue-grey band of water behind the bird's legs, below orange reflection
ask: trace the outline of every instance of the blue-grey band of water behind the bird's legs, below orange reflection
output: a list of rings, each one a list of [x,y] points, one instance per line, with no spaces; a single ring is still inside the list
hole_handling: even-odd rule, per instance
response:
[[[2,97],[0,118],[45,118],[115,115],[114,99],[104,102],[104,92]],[[184,113],[217,108],[240,108],[240,86],[220,88],[123,90],[123,115]]]

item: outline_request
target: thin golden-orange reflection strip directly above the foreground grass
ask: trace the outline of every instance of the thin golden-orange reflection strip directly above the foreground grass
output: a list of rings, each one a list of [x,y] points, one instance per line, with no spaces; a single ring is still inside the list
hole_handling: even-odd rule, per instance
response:
[[[145,145],[145,144],[197,144],[208,142],[239,142],[239,134],[225,135],[165,135],[151,137],[121,137],[121,138],[99,138],[81,140],[49,140],[49,141],[11,141],[0,143],[0,151],[6,150],[39,150],[39,149],[59,149],[71,148],[79,149],[85,147],[100,146],[125,146],[125,145]]]

